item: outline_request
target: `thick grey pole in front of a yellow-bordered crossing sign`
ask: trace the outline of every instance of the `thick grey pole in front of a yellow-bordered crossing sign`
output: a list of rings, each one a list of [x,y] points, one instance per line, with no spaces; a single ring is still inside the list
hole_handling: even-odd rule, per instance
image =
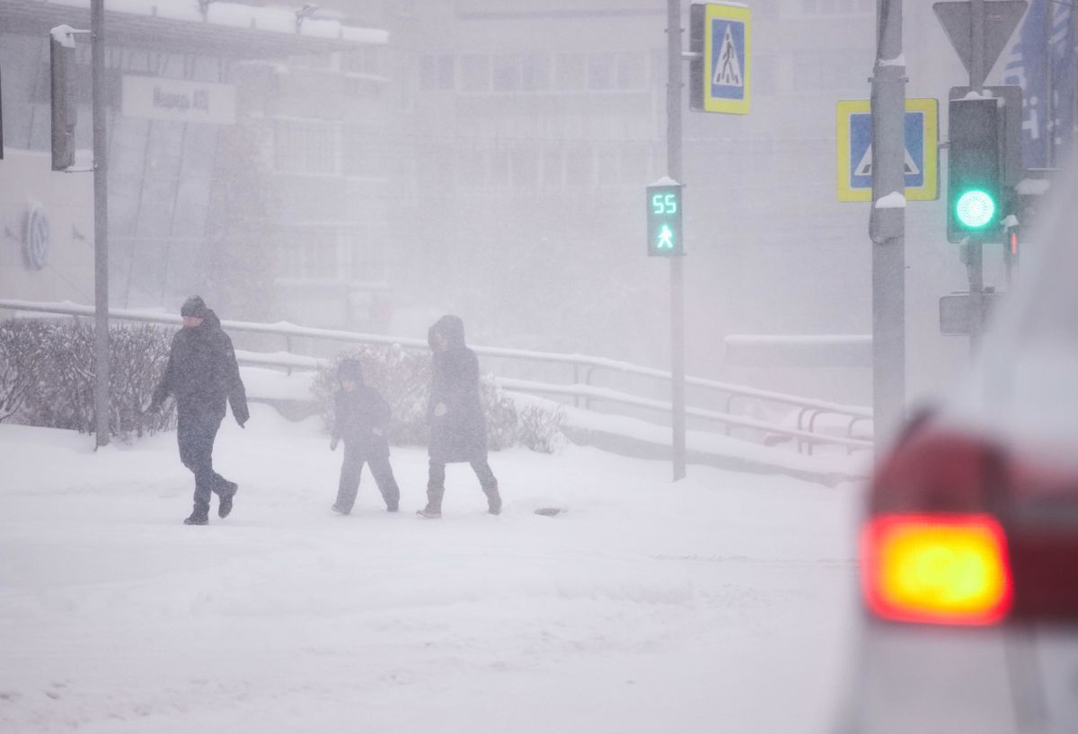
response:
[[[876,0],[872,70],[872,412],[876,441],[906,419],[906,62],[902,0]]]

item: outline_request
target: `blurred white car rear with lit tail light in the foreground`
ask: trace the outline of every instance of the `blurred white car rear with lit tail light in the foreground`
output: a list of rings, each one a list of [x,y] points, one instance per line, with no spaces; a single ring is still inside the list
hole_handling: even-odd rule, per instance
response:
[[[843,734],[1078,733],[1078,178],[1050,196],[971,373],[870,481]]]

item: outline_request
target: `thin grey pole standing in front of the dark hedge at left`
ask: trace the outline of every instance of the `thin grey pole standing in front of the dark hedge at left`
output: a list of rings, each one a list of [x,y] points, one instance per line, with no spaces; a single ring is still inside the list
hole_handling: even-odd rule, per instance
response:
[[[105,0],[92,0],[91,93],[94,117],[94,410],[97,446],[109,443],[108,138],[105,135]]]

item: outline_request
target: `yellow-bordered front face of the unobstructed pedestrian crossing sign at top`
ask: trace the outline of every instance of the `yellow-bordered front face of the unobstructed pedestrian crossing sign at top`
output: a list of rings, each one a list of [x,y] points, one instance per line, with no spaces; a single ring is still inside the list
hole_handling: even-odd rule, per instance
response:
[[[751,14],[745,6],[715,2],[704,9],[703,109],[747,115]]]

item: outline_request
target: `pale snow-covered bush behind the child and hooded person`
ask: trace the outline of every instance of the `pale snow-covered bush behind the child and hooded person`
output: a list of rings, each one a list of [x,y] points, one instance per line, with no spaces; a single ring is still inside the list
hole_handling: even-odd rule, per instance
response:
[[[426,444],[429,440],[427,401],[430,396],[430,356],[405,352],[399,345],[362,347],[337,354],[328,366],[318,371],[313,386],[327,427],[333,421],[337,366],[346,358],[359,361],[367,384],[382,393],[389,403],[393,414],[389,441],[397,444]],[[536,408],[529,413],[528,423],[522,424],[516,406],[501,392],[493,375],[480,380],[479,392],[492,451],[516,443],[524,443],[537,451],[552,450],[550,447],[554,444],[554,434],[561,424],[558,410],[551,409],[549,414],[543,414],[542,409]]]

